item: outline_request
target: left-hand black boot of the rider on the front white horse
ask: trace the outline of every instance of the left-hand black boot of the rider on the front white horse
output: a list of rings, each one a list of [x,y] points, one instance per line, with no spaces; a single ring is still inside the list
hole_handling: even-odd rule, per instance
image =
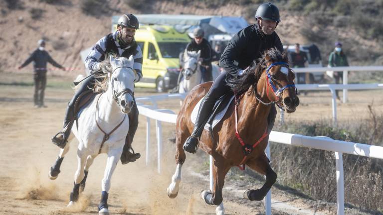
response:
[[[63,126],[64,128],[62,129],[62,131],[58,132],[52,137],[52,143],[60,148],[64,148],[66,143],[68,142],[68,137],[70,135],[70,131],[74,122],[74,115],[72,109],[73,108],[68,105],[65,111]]]

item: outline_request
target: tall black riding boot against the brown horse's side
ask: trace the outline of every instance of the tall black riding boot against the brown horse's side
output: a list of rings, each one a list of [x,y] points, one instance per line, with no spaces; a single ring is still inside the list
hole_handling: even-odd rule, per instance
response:
[[[201,103],[201,106],[198,109],[198,115],[195,119],[194,128],[192,135],[186,139],[184,144],[184,150],[192,154],[197,152],[199,138],[201,137],[203,127],[211,114],[212,109],[214,108],[215,100],[209,96],[209,93],[206,94],[205,98]]]

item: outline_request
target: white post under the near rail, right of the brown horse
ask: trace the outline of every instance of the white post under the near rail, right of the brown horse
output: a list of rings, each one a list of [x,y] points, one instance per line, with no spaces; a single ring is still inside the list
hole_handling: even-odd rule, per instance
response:
[[[335,162],[337,166],[337,215],[345,214],[345,191],[344,191],[344,174],[343,174],[343,153],[335,152]]]

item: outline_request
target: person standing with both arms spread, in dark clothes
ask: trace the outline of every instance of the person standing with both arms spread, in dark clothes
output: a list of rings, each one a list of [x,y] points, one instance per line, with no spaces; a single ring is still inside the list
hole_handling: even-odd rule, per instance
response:
[[[46,108],[44,105],[44,91],[46,86],[46,63],[50,63],[53,66],[65,71],[65,68],[52,59],[47,51],[45,51],[45,41],[40,39],[38,42],[38,48],[32,52],[32,54],[25,60],[18,69],[21,69],[33,61],[33,76],[34,76],[34,107]]]

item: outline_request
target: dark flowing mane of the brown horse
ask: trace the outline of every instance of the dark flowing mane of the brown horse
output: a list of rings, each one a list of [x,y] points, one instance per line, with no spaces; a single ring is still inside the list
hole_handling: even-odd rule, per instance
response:
[[[270,57],[270,59],[267,61],[265,59],[266,55]],[[247,74],[240,78],[231,78],[227,80],[227,85],[231,88],[233,92],[235,92],[237,95],[242,95],[243,93],[247,92],[247,90],[253,86],[254,92],[257,89],[257,83],[259,78],[262,75],[262,72],[267,68],[268,62],[286,62],[288,61],[286,53],[281,53],[278,49],[272,48],[262,55],[262,58],[259,59],[259,62],[256,63],[253,62],[253,65]]]

